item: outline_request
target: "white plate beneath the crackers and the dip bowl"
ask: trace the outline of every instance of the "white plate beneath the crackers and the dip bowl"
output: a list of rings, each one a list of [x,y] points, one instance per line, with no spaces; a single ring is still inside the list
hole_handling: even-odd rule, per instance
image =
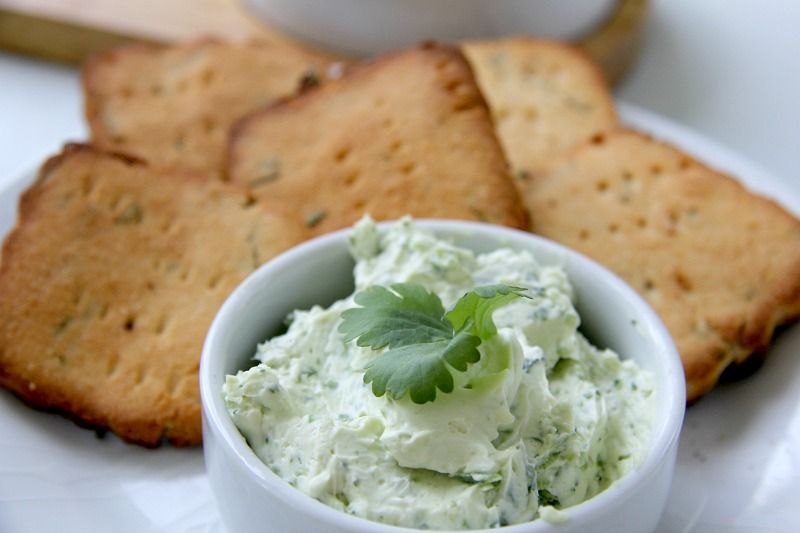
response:
[[[741,178],[800,215],[800,196],[724,147],[640,109],[624,120]],[[0,234],[11,227],[20,176],[0,191]],[[796,185],[796,184],[795,184]],[[764,366],[691,407],[659,533],[794,533],[800,526],[800,326],[783,331]],[[0,531],[224,531],[200,450],[144,450],[98,439],[0,392]]]

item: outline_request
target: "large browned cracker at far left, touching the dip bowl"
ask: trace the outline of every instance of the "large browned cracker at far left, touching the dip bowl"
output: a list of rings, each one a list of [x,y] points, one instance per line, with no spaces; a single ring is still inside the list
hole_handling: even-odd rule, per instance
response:
[[[130,442],[198,444],[213,316],[303,238],[229,185],[69,146],[22,196],[3,246],[0,384]]]

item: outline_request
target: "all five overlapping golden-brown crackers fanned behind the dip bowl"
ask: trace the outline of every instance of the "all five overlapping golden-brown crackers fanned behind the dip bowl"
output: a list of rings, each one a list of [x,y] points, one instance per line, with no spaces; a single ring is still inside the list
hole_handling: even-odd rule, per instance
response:
[[[800,314],[800,223],[622,128],[563,44],[346,68],[271,42],[134,45],[83,83],[91,146],[42,167],[3,247],[0,384],[130,442],[198,444],[200,350],[226,295],[367,213],[530,229],[594,257],[664,319],[689,400]]]

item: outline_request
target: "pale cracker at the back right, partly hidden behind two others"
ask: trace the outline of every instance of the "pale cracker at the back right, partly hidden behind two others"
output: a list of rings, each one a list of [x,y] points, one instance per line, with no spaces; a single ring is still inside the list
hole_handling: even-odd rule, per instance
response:
[[[520,179],[544,172],[575,146],[619,125],[603,75],[576,48],[527,37],[462,48]]]

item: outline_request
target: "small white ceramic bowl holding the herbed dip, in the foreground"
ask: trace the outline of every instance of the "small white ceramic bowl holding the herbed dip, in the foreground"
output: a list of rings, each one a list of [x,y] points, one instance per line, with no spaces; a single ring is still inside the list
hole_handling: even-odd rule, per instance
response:
[[[581,330],[594,344],[631,357],[655,375],[657,412],[649,452],[639,468],[593,498],[565,509],[564,524],[536,520],[501,531],[652,531],[669,492],[685,407],[683,368],[660,319],[621,279],[559,244],[475,222],[419,220],[417,224],[476,252],[507,246],[529,250],[540,264],[563,266],[575,289]],[[230,295],[209,329],[200,363],[203,451],[220,515],[231,532],[417,531],[342,513],[291,487],[248,446],[222,397],[225,376],[251,366],[256,344],[274,334],[291,310],[328,305],[352,293],[349,232],[318,237],[261,266]]]

